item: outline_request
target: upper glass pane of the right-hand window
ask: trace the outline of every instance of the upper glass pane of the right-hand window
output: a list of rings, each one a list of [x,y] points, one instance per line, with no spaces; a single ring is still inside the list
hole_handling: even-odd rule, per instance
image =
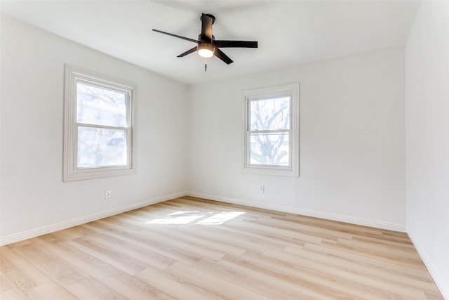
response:
[[[290,97],[250,101],[250,130],[290,129]]]

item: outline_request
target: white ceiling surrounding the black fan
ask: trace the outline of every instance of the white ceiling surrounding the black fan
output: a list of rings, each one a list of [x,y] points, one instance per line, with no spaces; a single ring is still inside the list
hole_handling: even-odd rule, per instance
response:
[[[1,1],[1,11],[79,44],[185,84],[268,72],[405,44],[421,1]],[[216,39],[257,40],[259,48],[223,48],[226,65],[196,53],[201,13]]]

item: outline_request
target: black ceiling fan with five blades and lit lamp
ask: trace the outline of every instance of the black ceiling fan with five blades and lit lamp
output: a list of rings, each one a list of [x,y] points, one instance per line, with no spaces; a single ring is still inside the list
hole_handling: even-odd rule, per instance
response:
[[[212,34],[212,25],[215,22],[215,17],[209,13],[201,14],[201,34],[199,34],[198,39],[189,39],[188,37],[181,37],[177,34],[172,34],[168,32],[163,32],[161,30],[153,30],[162,34],[170,35],[171,37],[177,37],[179,39],[185,39],[187,41],[192,41],[196,43],[196,46],[192,49],[181,53],[178,58],[187,56],[187,54],[194,53],[198,51],[199,56],[203,58],[210,58],[216,56],[223,60],[228,65],[233,62],[229,56],[227,56],[220,48],[257,48],[257,41],[225,41],[216,40]],[[207,66],[206,66],[207,67]]]

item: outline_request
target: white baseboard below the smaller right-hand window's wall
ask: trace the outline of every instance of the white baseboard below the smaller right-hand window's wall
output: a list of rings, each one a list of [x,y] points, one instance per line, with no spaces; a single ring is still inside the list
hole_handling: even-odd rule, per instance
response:
[[[290,214],[300,214],[302,216],[313,216],[313,217],[321,218],[321,219],[328,219],[328,220],[340,221],[340,222],[344,222],[344,223],[351,223],[351,224],[356,224],[356,225],[361,225],[361,226],[369,226],[369,227],[373,227],[373,228],[393,230],[393,231],[398,231],[401,233],[406,232],[406,226],[402,225],[402,224],[360,219],[360,218],[354,218],[351,216],[328,214],[328,213],[321,212],[321,211],[298,209],[295,207],[286,207],[286,206],[272,204],[272,203],[261,203],[261,202],[255,202],[255,201],[233,199],[233,198],[221,197],[221,196],[216,196],[216,195],[208,195],[208,194],[203,194],[203,193],[187,192],[187,195],[191,196],[191,197],[198,197],[198,198],[203,198],[203,199],[208,199],[208,200],[215,200],[215,201],[227,202],[227,203],[232,203],[232,204],[240,204],[240,205],[245,205],[248,207],[271,209],[274,211],[288,212]]]

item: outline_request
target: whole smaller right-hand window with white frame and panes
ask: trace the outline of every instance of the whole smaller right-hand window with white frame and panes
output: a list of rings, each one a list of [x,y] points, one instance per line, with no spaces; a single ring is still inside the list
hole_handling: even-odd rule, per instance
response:
[[[299,176],[299,84],[243,91],[243,172]]]

